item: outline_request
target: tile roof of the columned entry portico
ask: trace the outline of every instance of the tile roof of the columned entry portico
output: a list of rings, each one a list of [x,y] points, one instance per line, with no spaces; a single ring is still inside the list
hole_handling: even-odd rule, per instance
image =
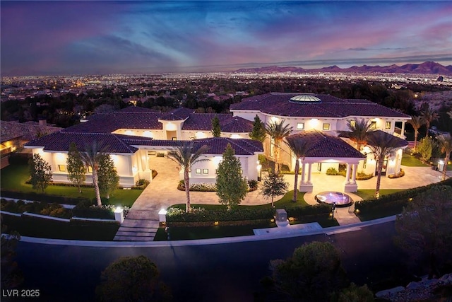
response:
[[[320,158],[365,158],[364,154],[357,151],[343,139],[333,137],[321,132],[309,131],[290,135],[286,139],[303,139],[311,141],[312,145],[306,157]]]

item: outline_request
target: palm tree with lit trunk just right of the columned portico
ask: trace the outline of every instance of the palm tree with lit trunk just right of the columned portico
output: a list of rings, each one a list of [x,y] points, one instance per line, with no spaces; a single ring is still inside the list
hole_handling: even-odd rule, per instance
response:
[[[402,146],[406,146],[406,142],[403,139],[394,137],[391,134],[383,132],[381,130],[371,131],[367,133],[367,146],[374,153],[376,160],[376,189],[375,198],[380,197],[380,183],[381,183],[381,170],[383,170],[383,162],[386,156],[393,156],[397,149]]]

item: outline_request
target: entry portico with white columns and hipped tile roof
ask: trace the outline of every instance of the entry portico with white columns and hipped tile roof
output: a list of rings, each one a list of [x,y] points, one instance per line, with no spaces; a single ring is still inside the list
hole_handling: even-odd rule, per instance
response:
[[[364,154],[357,151],[339,137],[333,137],[321,132],[300,132],[288,138],[311,142],[306,156],[298,159],[302,168],[302,177],[299,182],[300,192],[313,192],[314,190],[314,184],[311,182],[312,165],[314,163],[317,164],[319,171],[326,171],[328,168],[338,166],[338,164],[347,165],[344,192],[357,191],[357,167],[359,161],[366,158]],[[295,155],[292,154],[292,161],[295,162],[295,160]]]

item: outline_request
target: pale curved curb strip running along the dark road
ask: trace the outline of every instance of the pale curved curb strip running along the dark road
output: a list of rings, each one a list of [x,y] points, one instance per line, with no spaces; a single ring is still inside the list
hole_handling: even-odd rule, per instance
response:
[[[334,234],[334,233],[346,233],[349,231],[359,231],[360,227],[373,226],[380,223],[386,223],[390,221],[396,221],[396,215],[388,216],[381,219],[375,219],[370,221],[364,221],[359,223],[353,223],[346,226],[333,226],[331,228],[322,228],[321,230],[304,232],[299,230],[290,231],[290,233],[276,233],[266,234],[261,236],[237,236],[237,237],[225,237],[225,238],[213,238],[213,239],[198,239],[198,240],[174,240],[174,241],[88,241],[88,240],[65,240],[65,239],[48,239],[48,238],[35,238],[23,236],[20,241],[26,243],[39,243],[48,245],[71,245],[71,246],[83,246],[94,248],[167,248],[175,246],[185,245],[213,245],[224,243],[242,243],[249,241],[261,241],[261,240],[274,240],[283,238],[293,238],[301,236],[311,236],[319,234]]]

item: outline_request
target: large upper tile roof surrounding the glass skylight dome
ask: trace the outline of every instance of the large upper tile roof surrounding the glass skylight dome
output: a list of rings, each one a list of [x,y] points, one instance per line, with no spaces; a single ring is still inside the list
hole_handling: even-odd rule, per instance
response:
[[[299,102],[290,100],[303,93],[266,93],[251,98],[244,98],[241,103],[232,104],[230,110],[255,110],[270,115],[286,117],[405,117],[391,108],[373,103],[369,100],[350,100],[336,98],[333,95],[314,95],[320,102]]]

